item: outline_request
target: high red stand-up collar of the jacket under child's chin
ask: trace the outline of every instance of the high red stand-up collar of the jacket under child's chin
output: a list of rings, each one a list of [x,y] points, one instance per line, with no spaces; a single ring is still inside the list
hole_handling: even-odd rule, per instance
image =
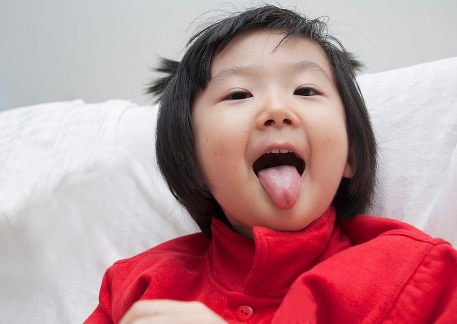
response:
[[[231,291],[282,298],[303,272],[350,246],[330,206],[299,232],[254,227],[254,241],[213,220],[208,251],[213,277]]]

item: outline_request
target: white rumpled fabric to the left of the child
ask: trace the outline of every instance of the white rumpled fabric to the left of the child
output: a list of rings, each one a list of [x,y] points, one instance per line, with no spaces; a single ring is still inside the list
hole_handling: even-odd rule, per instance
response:
[[[116,260],[198,230],[155,163],[156,106],[81,100],[0,114],[0,314],[81,323]]]

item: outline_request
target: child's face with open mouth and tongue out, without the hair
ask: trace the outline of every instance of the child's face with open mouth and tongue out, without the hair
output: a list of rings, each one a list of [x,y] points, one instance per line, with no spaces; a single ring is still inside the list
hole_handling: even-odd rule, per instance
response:
[[[192,106],[205,181],[234,230],[251,238],[254,226],[302,230],[352,176],[327,57],[305,37],[278,46],[283,37],[251,30],[234,38],[213,57]]]

